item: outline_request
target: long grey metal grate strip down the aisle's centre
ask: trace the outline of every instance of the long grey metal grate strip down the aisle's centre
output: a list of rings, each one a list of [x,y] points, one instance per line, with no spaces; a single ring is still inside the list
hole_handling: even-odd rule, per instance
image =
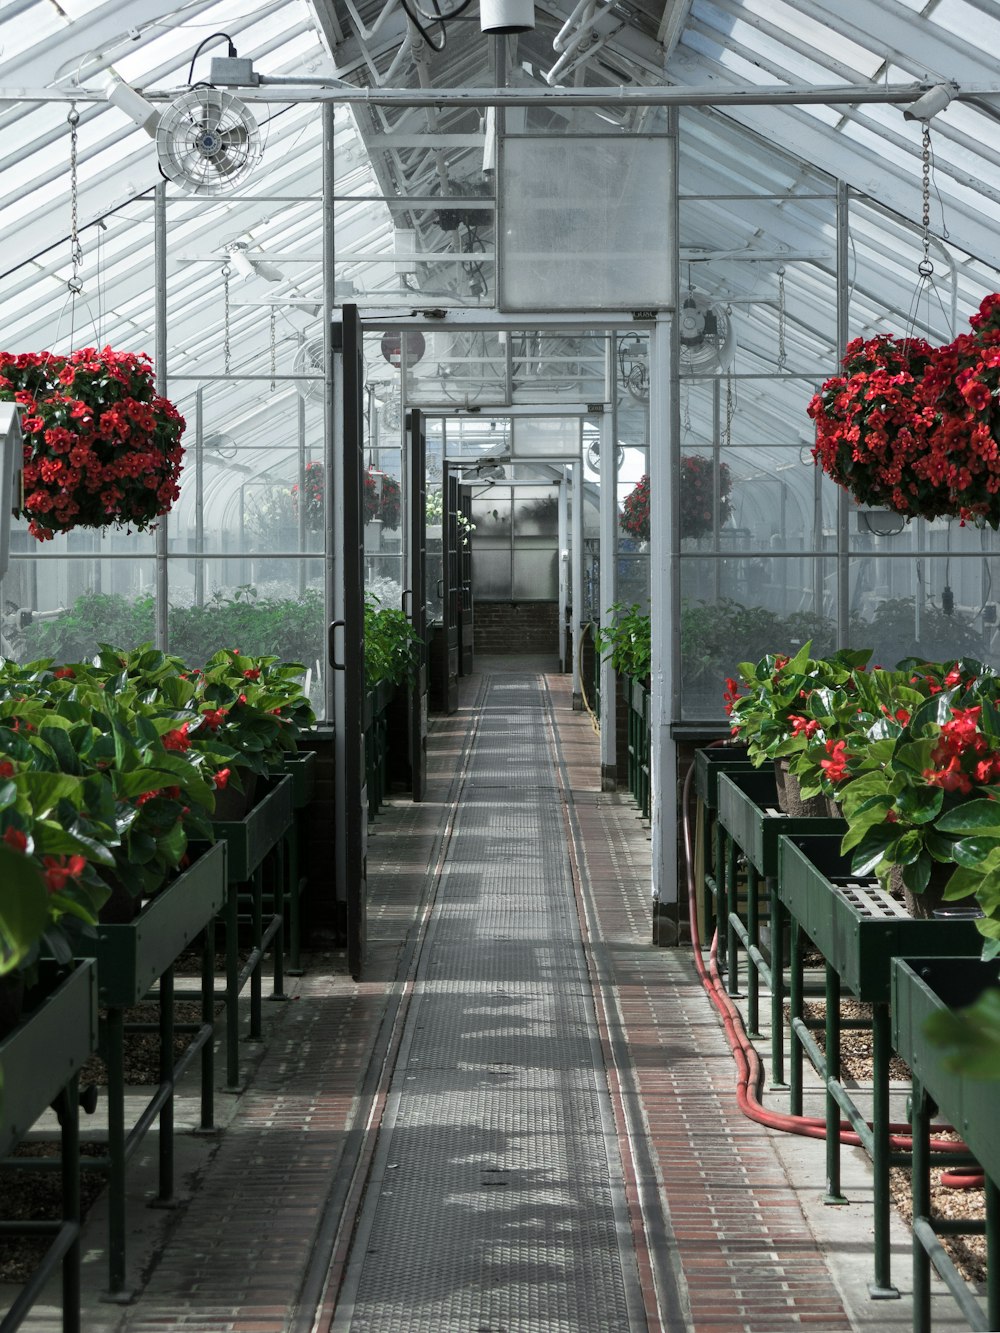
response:
[[[547,694],[496,674],[332,1328],[645,1326]]]

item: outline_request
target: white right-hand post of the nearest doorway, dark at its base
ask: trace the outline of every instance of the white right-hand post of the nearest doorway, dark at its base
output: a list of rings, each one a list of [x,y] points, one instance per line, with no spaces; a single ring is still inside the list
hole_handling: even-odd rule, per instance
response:
[[[677,754],[675,714],[676,469],[673,453],[673,320],[660,312],[649,332],[649,613],[652,617],[651,805],[653,942],[677,937]]]

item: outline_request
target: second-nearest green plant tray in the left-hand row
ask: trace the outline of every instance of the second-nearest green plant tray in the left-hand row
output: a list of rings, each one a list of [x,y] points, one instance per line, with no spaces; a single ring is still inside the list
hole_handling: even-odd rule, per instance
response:
[[[99,925],[96,941],[83,941],[83,952],[97,958],[103,1005],[125,1009],[137,1004],[221,908],[225,845],[199,850],[197,860],[151,898],[135,921]]]

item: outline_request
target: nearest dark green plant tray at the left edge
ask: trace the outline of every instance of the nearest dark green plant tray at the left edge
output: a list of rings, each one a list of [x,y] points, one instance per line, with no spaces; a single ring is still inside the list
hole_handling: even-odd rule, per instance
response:
[[[0,1041],[0,1157],[24,1138],[96,1048],[97,973],[88,958]]]

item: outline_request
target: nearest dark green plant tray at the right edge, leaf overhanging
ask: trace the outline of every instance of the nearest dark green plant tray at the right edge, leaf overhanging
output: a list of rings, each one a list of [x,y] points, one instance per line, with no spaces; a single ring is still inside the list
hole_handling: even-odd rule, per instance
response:
[[[981,944],[983,936],[979,940]],[[939,954],[896,958],[892,965],[892,1044],[995,1184],[1000,1184],[996,1082],[948,1069],[945,1052],[928,1041],[924,1024],[932,1013],[965,1008],[987,986],[997,985],[996,958],[983,962]]]

